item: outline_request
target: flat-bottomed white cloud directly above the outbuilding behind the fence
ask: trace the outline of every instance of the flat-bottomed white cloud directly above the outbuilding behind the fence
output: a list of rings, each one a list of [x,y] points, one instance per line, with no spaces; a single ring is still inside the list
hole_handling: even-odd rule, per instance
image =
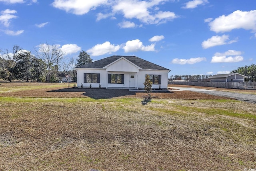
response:
[[[234,63],[244,60],[244,57],[240,56],[241,51],[228,50],[224,53],[215,53],[212,57],[211,63]]]

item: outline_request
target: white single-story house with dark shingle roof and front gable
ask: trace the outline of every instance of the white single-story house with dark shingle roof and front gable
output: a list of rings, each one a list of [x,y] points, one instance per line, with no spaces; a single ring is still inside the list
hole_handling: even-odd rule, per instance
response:
[[[146,75],[152,88],[166,89],[169,69],[136,56],[111,56],[77,69],[77,86],[102,88],[144,88]]]

